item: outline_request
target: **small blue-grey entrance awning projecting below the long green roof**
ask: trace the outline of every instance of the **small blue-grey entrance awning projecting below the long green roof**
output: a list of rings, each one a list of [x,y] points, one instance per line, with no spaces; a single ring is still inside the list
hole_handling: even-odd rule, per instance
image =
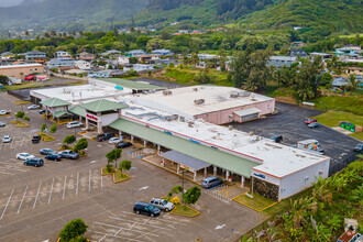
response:
[[[173,162],[179,163],[180,165],[186,166],[186,168],[190,168],[190,169],[194,169],[196,172],[210,166],[210,164],[208,164],[206,162],[202,162],[198,158],[194,158],[189,155],[185,155],[185,154],[183,154],[180,152],[177,152],[177,151],[165,152],[161,156],[163,158],[167,158],[167,160],[170,160]]]

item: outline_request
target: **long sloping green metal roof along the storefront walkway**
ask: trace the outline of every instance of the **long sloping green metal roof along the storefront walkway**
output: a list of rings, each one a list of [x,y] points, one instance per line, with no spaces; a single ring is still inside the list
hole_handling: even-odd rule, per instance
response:
[[[197,144],[190,140],[175,136],[167,132],[154,130],[152,128],[147,128],[146,125],[139,124],[125,119],[118,119],[117,121],[112,122],[110,127],[116,130],[120,130],[122,132],[160,144],[169,150],[187,154],[194,158],[206,161],[211,165],[231,170],[248,178],[251,176],[251,168],[260,165],[258,163],[238,157],[217,148]]]

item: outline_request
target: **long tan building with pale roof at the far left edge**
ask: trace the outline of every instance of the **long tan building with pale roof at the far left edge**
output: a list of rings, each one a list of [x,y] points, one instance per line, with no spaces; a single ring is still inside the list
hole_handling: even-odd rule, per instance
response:
[[[0,75],[24,79],[34,73],[44,73],[42,64],[7,65],[0,66]]]

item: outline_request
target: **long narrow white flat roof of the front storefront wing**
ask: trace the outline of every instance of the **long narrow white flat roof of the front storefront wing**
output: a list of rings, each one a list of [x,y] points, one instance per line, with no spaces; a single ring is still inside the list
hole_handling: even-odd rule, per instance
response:
[[[123,98],[123,100],[125,100]],[[317,155],[295,147],[277,144],[272,140],[249,133],[230,130],[226,127],[193,120],[191,127],[188,120],[166,121],[170,113],[138,106],[125,100],[129,109],[122,110],[125,118],[138,119],[141,122],[162,128],[173,133],[179,133],[186,139],[194,139],[201,143],[213,145],[218,150],[244,157],[251,161],[262,162],[255,169],[276,177],[306,168],[310,165],[326,161],[327,156]]]

